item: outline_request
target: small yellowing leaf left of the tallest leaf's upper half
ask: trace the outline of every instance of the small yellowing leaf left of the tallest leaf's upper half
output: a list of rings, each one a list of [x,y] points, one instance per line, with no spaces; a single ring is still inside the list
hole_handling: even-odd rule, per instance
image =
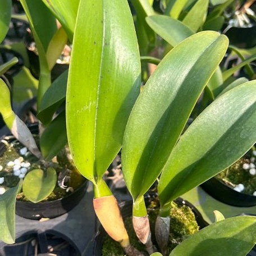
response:
[[[46,58],[50,70],[52,70],[53,66],[56,64],[56,61],[58,57],[60,57],[66,43],[67,34],[63,28],[60,28],[53,35],[46,52]]]

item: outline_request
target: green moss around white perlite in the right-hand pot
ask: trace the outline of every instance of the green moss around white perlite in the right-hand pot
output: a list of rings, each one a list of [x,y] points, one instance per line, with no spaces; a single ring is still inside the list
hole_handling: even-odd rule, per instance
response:
[[[242,193],[253,195],[254,191],[256,191],[256,175],[250,175],[249,170],[243,169],[244,163],[250,164],[250,158],[253,157],[253,150],[255,150],[255,147],[250,149],[243,158],[240,158],[232,166],[219,173],[216,176],[217,179],[224,181],[231,188],[234,188],[235,185],[243,184],[245,189]]]

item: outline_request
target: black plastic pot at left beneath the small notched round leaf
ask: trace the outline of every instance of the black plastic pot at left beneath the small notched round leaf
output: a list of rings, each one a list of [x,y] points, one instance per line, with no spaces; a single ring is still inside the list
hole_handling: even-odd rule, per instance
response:
[[[31,132],[38,132],[38,125],[30,126]],[[6,147],[0,143],[0,156],[3,154]],[[39,220],[40,218],[55,218],[70,211],[83,198],[88,187],[88,180],[84,180],[83,184],[77,188],[74,193],[49,202],[31,203],[16,201],[16,214],[31,220]]]

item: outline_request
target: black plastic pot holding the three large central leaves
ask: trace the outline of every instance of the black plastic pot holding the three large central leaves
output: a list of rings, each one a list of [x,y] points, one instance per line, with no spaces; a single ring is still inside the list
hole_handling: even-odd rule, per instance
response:
[[[209,223],[207,223],[202,215],[200,214],[200,212],[198,211],[198,209],[196,209],[194,207],[193,204],[189,203],[188,201],[182,199],[182,198],[177,198],[175,200],[175,202],[179,205],[187,205],[188,207],[191,208],[191,210],[193,211],[193,213],[195,214],[195,220],[196,222],[198,223],[200,229],[205,227],[205,226],[208,226]],[[148,205],[148,202],[147,202],[147,198],[145,198],[145,203],[146,205]],[[121,210],[121,214],[122,214],[122,217],[125,218],[125,217],[129,217],[132,215],[132,200],[129,200],[129,201],[125,201],[125,202],[122,202],[119,204],[119,207],[120,207],[120,210]],[[98,225],[95,225],[96,227]],[[99,229],[98,230],[95,230],[95,234],[96,237],[95,237],[95,240],[94,240],[94,245],[93,245],[93,256],[102,256],[102,245],[103,245],[103,240],[104,240],[104,236],[107,235],[106,231],[104,230],[104,228],[100,225]]]

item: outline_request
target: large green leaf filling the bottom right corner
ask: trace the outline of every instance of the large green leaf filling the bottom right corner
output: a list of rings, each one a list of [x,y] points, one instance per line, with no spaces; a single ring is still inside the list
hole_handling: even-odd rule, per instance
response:
[[[256,243],[256,217],[218,221],[191,235],[170,256],[245,256]]]

